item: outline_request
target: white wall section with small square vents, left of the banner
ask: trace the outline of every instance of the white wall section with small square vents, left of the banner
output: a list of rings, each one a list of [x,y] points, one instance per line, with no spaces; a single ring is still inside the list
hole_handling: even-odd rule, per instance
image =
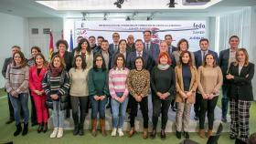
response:
[[[38,28],[38,35],[31,34],[31,28]],[[48,59],[49,35],[43,34],[43,28],[50,28],[53,35],[53,45],[61,38],[63,19],[58,17],[28,18],[29,47],[39,46],[44,56]]]

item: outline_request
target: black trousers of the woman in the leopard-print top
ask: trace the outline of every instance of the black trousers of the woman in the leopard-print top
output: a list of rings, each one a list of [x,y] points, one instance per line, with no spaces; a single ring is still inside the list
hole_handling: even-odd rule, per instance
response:
[[[140,104],[140,108],[142,110],[143,113],[143,117],[144,117],[144,129],[148,128],[148,99],[147,97],[143,98],[141,102],[137,102],[135,100],[135,98],[131,97],[129,99],[131,101],[131,116],[130,116],[130,125],[131,128],[134,127],[134,120],[135,117],[137,116],[137,112],[138,112],[138,104]]]

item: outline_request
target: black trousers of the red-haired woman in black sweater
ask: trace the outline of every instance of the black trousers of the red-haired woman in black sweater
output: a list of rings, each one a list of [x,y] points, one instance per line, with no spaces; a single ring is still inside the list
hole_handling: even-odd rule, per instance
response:
[[[152,98],[153,99],[153,129],[156,129],[157,122],[158,122],[158,116],[161,113],[162,114],[162,124],[161,129],[165,130],[166,123],[168,120],[168,110],[170,108],[171,99],[162,100],[159,98]]]

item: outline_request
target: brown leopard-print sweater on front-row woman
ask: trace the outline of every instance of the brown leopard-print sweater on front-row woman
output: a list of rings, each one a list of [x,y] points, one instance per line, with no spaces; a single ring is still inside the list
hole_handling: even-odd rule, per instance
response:
[[[127,81],[128,89],[133,97],[135,95],[147,97],[150,87],[150,74],[148,70],[131,70]]]

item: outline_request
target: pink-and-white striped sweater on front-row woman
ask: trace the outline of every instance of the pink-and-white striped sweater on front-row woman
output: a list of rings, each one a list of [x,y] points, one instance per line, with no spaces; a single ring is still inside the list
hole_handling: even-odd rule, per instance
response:
[[[123,93],[124,97],[129,94],[126,79],[129,74],[128,68],[112,68],[109,74],[109,89],[112,98],[117,98],[116,93]]]

